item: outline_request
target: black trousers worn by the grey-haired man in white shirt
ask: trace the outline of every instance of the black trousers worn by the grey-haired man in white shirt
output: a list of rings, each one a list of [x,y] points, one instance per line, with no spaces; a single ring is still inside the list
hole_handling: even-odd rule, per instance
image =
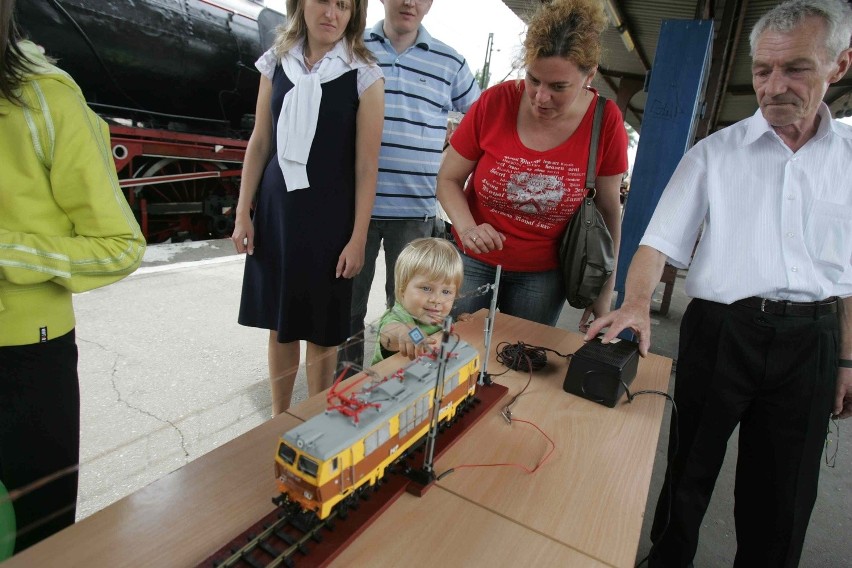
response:
[[[650,566],[692,562],[737,424],[734,566],[798,565],[834,400],[838,342],[836,314],[774,316],[705,300],[689,304],[674,395],[680,443],[657,504],[652,540],[668,526]],[[671,453],[674,424],[669,440]]]

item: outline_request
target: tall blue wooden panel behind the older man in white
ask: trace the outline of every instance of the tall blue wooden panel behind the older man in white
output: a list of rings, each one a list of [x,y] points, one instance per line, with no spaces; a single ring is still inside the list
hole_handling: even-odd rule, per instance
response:
[[[648,83],[636,162],[625,203],[615,289],[624,298],[627,267],[675,167],[695,137],[713,38],[710,20],[663,20]]]

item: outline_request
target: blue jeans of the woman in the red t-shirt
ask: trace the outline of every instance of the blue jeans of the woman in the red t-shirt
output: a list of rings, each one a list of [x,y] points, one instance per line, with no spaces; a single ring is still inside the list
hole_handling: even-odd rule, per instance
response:
[[[453,307],[453,317],[473,313],[491,306],[491,292],[474,296],[483,284],[492,284],[497,267],[485,264],[462,253],[464,283],[460,298]],[[497,308],[511,316],[556,326],[565,304],[562,274],[558,269],[543,272],[512,272],[504,270],[500,276]]]

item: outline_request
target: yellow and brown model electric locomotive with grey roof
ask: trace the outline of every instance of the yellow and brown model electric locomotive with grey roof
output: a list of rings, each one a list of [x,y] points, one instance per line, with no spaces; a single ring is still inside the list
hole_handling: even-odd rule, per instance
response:
[[[473,398],[478,372],[479,351],[459,341],[444,374],[441,422]],[[325,519],[353,492],[375,484],[428,433],[437,374],[438,361],[420,357],[353,393],[350,400],[363,408],[356,419],[327,410],[284,433],[275,456],[279,491]]]

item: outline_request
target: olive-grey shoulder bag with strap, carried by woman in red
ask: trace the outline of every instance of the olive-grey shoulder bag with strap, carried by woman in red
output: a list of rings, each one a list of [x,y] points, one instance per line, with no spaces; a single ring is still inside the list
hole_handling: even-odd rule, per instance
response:
[[[589,144],[586,170],[586,195],[574,214],[559,244],[559,267],[565,280],[565,299],[573,308],[591,306],[601,293],[615,266],[612,236],[600,211],[595,207],[595,165],[601,121],[606,99],[595,101],[595,119]]]

